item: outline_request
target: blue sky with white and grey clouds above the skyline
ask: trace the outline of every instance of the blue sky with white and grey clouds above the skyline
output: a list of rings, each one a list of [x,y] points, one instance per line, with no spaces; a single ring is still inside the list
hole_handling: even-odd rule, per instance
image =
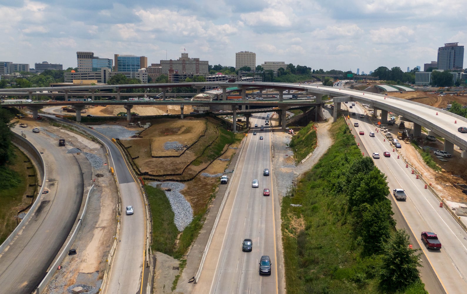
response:
[[[235,52],[312,69],[403,71],[467,45],[453,0],[0,0],[0,61],[76,67],[77,51],[113,59],[181,53],[235,65]],[[466,67],[467,60],[464,62]]]

